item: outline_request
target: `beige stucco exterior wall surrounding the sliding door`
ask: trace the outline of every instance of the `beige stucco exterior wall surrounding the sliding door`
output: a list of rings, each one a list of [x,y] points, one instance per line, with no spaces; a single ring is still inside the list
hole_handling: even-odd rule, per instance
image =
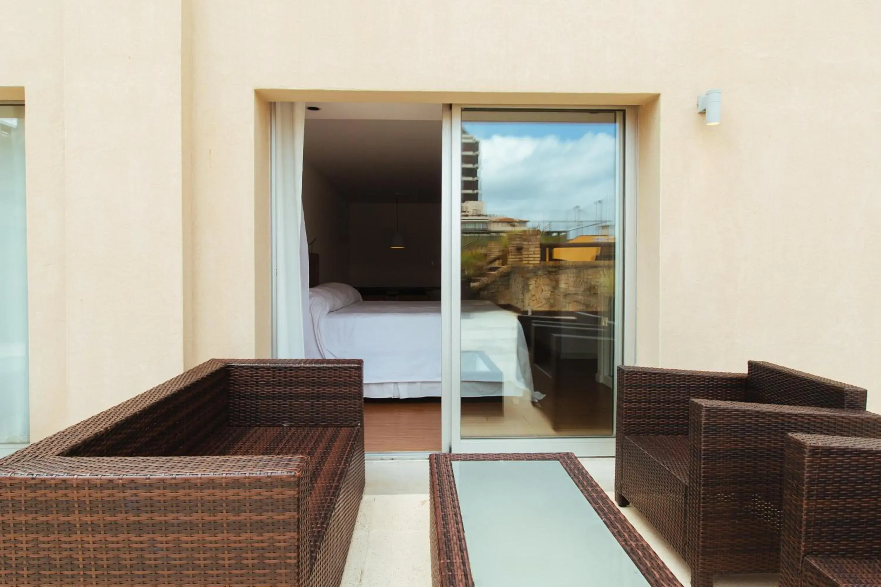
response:
[[[204,358],[268,354],[265,100],[315,91],[643,105],[640,362],[763,358],[866,385],[881,410],[878,3],[2,0],[0,14],[0,87],[27,101],[34,437]],[[715,128],[695,113],[711,87]]]

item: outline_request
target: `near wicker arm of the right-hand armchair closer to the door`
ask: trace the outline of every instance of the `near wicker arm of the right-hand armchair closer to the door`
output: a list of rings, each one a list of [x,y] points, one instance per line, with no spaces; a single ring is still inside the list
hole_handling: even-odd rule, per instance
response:
[[[692,400],[686,561],[692,572],[780,569],[788,432],[881,437],[881,416],[825,407]]]

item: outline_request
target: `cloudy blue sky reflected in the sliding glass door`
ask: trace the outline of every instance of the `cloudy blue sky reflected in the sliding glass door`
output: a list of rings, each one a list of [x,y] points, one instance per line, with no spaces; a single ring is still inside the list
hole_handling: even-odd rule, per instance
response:
[[[578,206],[581,220],[614,220],[615,147],[614,136],[593,132],[483,138],[478,172],[486,212],[544,223],[574,220]]]

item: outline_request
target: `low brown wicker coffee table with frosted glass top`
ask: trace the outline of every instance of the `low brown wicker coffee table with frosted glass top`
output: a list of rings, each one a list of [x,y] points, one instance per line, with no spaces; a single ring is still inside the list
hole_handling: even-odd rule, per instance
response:
[[[434,587],[682,587],[574,454],[433,454]]]

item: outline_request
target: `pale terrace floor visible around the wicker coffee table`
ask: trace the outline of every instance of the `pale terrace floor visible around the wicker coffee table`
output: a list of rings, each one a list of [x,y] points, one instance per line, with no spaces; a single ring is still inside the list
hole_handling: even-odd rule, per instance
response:
[[[593,478],[611,496],[614,459],[581,459]],[[633,508],[627,519],[655,548],[679,581],[688,587],[685,561]],[[429,587],[428,462],[368,461],[364,501],[349,549],[344,587]],[[715,587],[775,587],[777,577],[728,576]]]

